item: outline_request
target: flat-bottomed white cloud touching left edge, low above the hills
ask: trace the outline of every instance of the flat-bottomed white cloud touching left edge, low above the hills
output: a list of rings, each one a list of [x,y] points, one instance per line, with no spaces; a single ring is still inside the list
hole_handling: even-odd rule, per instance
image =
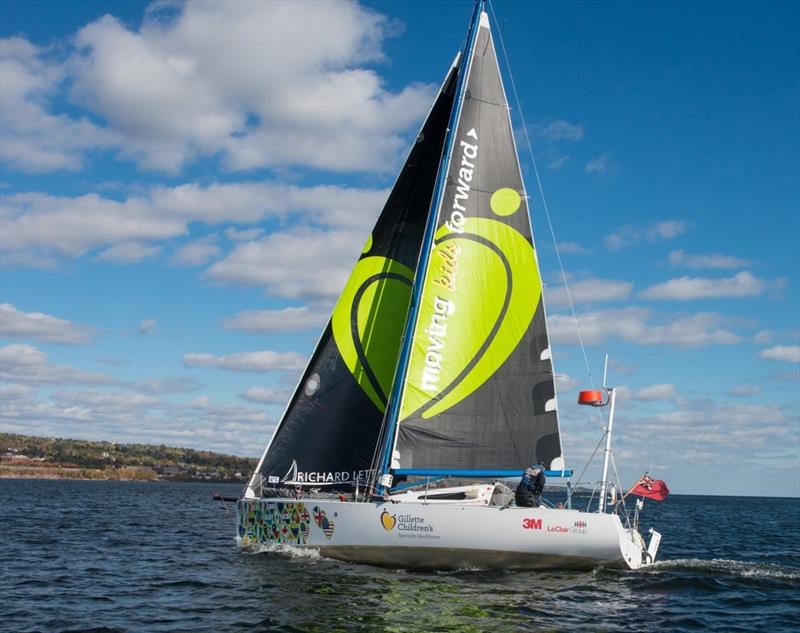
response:
[[[31,345],[0,348],[0,380],[21,384],[111,385],[118,381],[107,374],[83,371],[68,365],[51,365],[47,355]]]

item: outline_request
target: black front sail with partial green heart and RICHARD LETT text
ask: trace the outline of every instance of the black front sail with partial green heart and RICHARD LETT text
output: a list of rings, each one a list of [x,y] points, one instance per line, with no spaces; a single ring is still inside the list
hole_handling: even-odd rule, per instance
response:
[[[456,75],[456,68],[451,68],[251,488],[259,483],[349,488],[368,478],[408,314]]]

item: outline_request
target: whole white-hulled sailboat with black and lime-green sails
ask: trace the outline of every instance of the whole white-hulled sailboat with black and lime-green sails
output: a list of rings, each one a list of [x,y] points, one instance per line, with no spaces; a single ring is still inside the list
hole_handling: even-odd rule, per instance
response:
[[[517,507],[569,478],[531,220],[483,2],[241,499],[242,547],[404,568],[639,568],[638,522]],[[465,485],[448,485],[452,480]],[[637,513],[638,517],[638,513]]]

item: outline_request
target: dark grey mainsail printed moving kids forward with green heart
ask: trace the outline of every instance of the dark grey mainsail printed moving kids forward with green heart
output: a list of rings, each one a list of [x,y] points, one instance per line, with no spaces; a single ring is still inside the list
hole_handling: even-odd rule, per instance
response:
[[[542,283],[482,14],[401,391],[391,467],[562,469]]]

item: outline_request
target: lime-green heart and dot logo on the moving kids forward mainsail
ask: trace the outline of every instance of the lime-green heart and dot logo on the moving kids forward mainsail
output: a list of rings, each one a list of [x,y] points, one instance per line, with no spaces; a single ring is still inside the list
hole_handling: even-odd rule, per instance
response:
[[[509,192],[492,196],[496,214],[519,208],[519,194]],[[480,217],[441,226],[425,276],[400,420],[433,417],[486,382],[525,335],[541,291],[533,246],[513,227]]]

